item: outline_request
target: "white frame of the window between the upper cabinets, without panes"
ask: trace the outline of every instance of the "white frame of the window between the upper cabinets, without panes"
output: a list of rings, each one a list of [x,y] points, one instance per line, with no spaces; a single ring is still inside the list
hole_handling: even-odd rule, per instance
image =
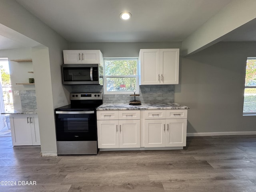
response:
[[[120,76],[107,76],[105,74],[105,60],[137,60],[137,75],[120,75]],[[104,58],[104,94],[134,94],[132,91],[107,91],[107,78],[129,78],[129,77],[135,77],[136,78],[136,92],[135,94],[139,94],[140,88],[139,88],[139,76],[138,76],[138,57],[114,57],[114,58]]]

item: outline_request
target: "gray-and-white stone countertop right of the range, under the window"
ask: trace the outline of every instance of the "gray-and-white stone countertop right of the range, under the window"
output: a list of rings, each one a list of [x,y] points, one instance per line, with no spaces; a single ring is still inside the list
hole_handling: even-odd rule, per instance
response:
[[[102,104],[96,110],[171,110],[171,109],[189,109],[189,107],[177,103],[143,103],[141,105],[129,104]]]

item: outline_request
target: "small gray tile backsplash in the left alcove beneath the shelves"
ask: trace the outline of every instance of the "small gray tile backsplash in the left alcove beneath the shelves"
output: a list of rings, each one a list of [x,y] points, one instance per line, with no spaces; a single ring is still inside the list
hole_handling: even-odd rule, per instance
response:
[[[36,90],[20,90],[22,109],[37,109]]]

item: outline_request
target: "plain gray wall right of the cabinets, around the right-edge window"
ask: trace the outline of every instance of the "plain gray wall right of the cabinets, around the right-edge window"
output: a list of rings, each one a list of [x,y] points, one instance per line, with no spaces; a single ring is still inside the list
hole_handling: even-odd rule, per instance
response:
[[[246,59],[256,42],[220,42],[180,60],[174,101],[187,106],[188,133],[256,131],[243,116]]]

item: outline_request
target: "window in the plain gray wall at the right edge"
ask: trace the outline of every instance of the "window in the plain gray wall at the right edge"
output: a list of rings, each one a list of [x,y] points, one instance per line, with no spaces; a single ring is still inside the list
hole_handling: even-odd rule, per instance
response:
[[[256,114],[256,57],[246,61],[243,113]]]

